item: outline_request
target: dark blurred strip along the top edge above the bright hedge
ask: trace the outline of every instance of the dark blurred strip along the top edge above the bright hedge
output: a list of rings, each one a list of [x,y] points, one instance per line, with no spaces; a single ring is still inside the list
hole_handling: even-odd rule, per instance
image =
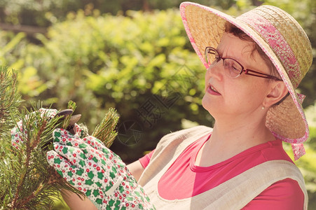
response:
[[[69,12],[81,10],[85,15],[99,15],[104,13],[126,13],[128,10],[155,9],[165,10],[168,8],[179,8],[181,0],[120,0],[120,1],[102,1],[102,0],[1,0],[0,1],[0,22],[11,23],[13,25],[36,25],[48,27],[51,24],[66,19]],[[234,0],[195,1],[205,5],[215,5],[227,9],[232,6]]]

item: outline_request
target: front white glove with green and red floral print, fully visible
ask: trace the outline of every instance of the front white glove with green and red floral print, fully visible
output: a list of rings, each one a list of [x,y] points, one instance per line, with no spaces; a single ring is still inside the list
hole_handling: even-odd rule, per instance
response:
[[[56,129],[53,139],[48,163],[98,209],[154,209],[121,158],[101,141],[63,129]]]

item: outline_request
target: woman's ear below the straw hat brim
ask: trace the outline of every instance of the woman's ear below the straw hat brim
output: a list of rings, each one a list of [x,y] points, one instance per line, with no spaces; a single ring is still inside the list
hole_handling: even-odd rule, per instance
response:
[[[268,107],[280,102],[287,95],[287,86],[283,81],[275,81],[271,84],[270,92],[268,92],[266,98],[263,101],[263,106]]]

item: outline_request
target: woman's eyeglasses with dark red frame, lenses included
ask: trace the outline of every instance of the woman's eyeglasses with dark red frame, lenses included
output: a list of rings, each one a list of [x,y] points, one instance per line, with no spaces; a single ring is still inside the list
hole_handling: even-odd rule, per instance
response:
[[[220,62],[221,59],[223,59],[223,66],[226,70],[226,73],[228,74],[228,76],[231,76],[232,78],[237,78],[238,76],[240,76],[240,74],[242,74],[242,72],[245,72],[245,74],[250,76],[269,78],[273,80],[281,80],[280,78],[268,75],[266,73],[261,73],[259,71],[254,71],[251,69],[245,69],[244,66],[242,66],[242,64],[240,64],[240,62],[238,62],[237,60],[229,57],[221,57],[219,55],[219,52],[217,52],[215,48],[205,48],[205,61],[207,62],[207,64],[209,64],[209,66],[214,66],[215,64]]]

